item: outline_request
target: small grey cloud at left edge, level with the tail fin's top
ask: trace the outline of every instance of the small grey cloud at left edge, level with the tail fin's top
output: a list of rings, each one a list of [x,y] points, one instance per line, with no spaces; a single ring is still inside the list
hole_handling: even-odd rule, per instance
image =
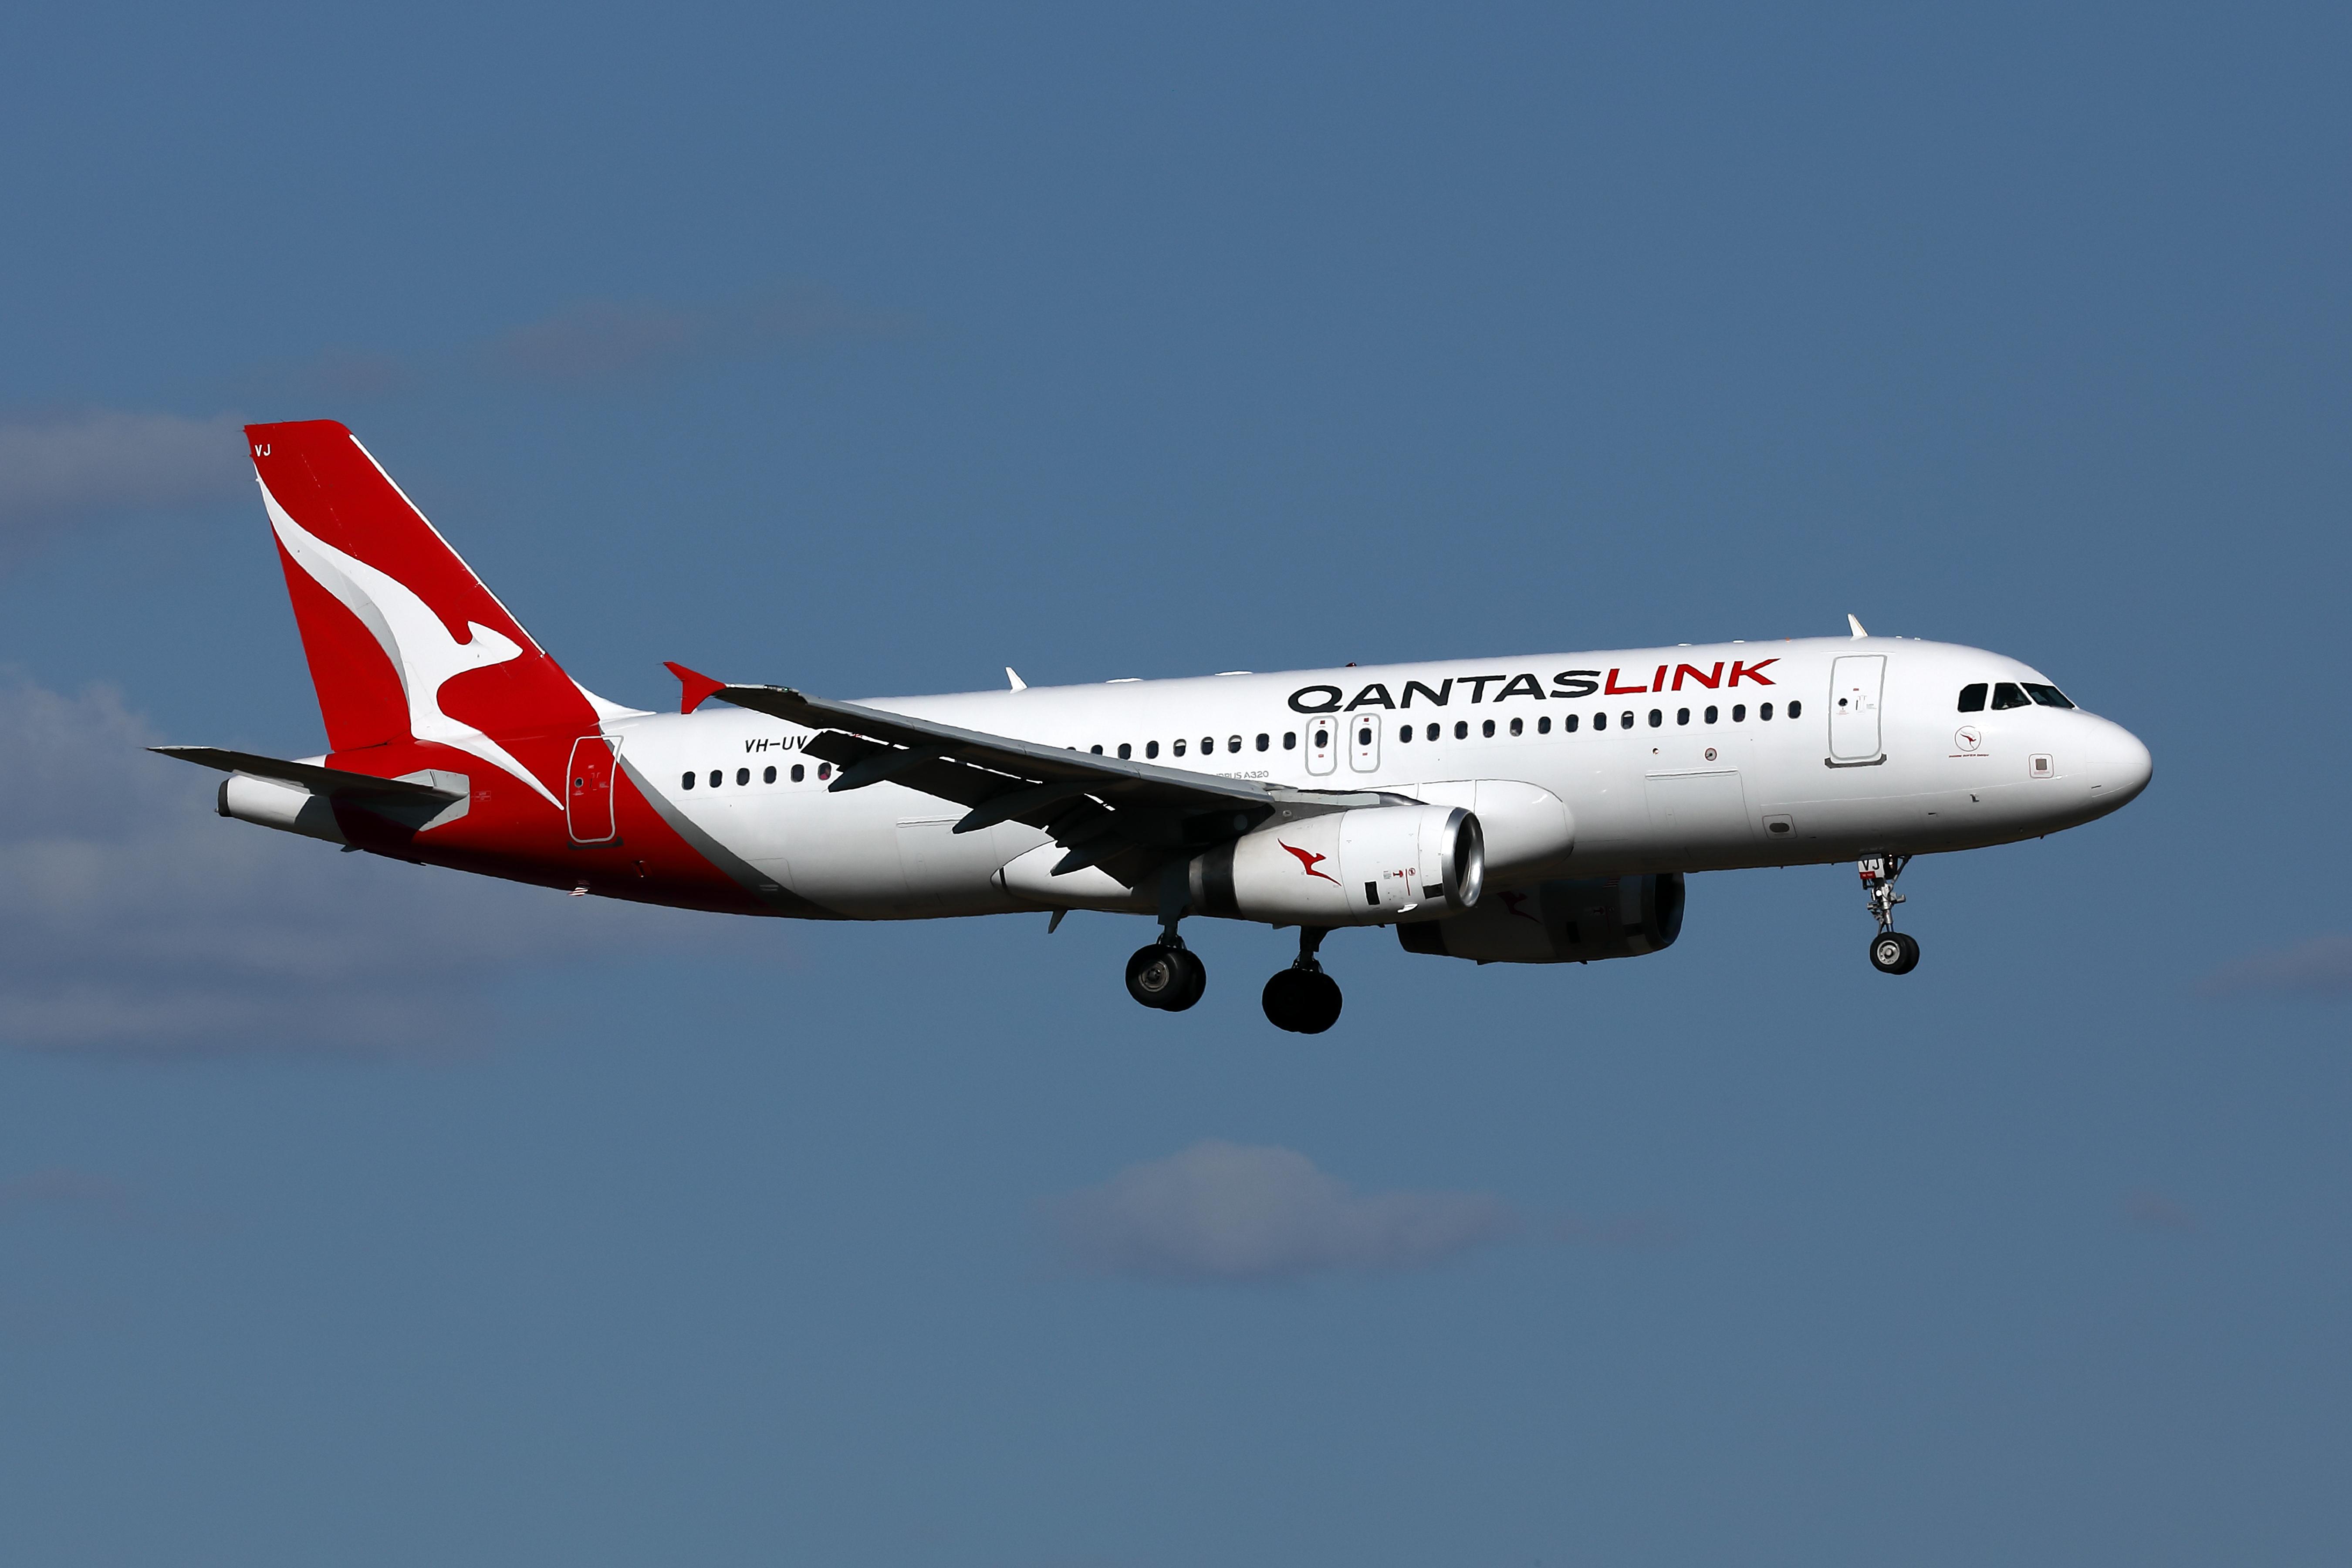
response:
[[[245,494],[233,418],[78,414],[0,423],[0,543],[106,512],[205,505]]]

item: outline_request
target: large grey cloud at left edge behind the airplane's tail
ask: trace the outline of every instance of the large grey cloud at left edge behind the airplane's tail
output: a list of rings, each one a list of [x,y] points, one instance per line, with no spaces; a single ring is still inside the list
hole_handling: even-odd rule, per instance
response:
[[[111,691],[0,679],[0,1041],[113,1056],[430,1056],[515,964],[708,919],[341,853],[214,813]]]

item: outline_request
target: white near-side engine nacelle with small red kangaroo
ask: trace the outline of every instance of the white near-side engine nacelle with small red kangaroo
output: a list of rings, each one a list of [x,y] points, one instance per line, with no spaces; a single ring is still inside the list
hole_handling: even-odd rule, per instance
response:
[[[1275,820],[1195,856],[1192,912],[1378,926],[1477,905],[1486,839],[1461,806],[1359,806]]]

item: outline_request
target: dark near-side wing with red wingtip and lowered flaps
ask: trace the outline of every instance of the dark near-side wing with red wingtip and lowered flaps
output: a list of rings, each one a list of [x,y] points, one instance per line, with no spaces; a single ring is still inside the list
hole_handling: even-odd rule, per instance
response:
[[[680,679],[689,675],[682,670]],[[802,750],[842,769],[833,790],[863,790],[887,778],[969,806],[955,832],[997,823],[1040,827],[1068,851],[1054,875],[1101,865],[1127,886],[1138,886],[1167,856],[1240,837],[1277,811],[1317,816],[1397,799],[1371,790],[1294,790],[1098,757],[833,703],[790,686],[727,686],[694,677],[687,691],[703,684],[703,696],[818,731]]]

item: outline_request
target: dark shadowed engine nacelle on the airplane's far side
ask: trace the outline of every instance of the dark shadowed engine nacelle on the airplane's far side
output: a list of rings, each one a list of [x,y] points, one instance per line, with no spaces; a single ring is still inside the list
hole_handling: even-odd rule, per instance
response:
[[[1397,926],[1406,952],[1479,964],[1590,964],[1672,947],[1682,872],[1538,882],[1489,893],[1468,914]]]

